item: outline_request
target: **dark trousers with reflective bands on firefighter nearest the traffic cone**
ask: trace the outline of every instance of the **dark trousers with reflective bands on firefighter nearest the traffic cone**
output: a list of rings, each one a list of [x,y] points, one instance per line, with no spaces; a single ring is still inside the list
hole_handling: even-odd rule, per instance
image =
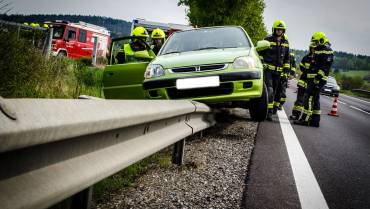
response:
[[[304,110],[302,120],[311,123],[320,123],[320,88],[313,82],[307,83],[307,90],[304,98]]]

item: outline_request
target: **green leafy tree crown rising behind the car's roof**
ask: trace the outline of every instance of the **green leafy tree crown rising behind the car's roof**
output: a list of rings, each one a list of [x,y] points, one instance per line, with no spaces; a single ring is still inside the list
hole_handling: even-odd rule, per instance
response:
[[[189,6],[187,16],[193,26],[240,25],[256,43],[266,36],[263,0],[179,0]]]

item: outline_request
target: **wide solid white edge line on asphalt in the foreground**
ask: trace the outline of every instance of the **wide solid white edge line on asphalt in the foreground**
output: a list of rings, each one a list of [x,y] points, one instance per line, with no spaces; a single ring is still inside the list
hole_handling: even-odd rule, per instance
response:
[[[328,204],[285,110],[278,111],[278,116],[302,209],[328,209]]]

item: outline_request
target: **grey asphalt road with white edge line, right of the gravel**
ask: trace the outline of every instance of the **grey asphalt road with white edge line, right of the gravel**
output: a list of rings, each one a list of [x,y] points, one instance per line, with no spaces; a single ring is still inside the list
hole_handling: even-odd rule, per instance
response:
[[[294,90],[285,111],[259,125],[246,207],[370,208],[370,101],[340,95],[333,117],[333,98],[321,96],[320,128],[298,126],[284,119]]]

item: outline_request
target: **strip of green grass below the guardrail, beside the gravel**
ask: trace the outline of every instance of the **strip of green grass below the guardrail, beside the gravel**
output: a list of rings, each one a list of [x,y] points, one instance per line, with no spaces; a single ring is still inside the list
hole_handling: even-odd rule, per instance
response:
[[[138,178],[151,168],[168,168],[170,166],[169,150],[165,149],[95,184],[93,198],[96,202],[104,201],[109,198],[112,191],[135,186]]]

